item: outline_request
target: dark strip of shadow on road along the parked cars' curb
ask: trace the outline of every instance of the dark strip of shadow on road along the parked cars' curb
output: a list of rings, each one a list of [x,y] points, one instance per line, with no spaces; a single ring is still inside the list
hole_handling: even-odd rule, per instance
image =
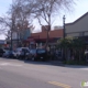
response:
[[[3,59],[16,59],[16,58],[3,58]],[[32,61],[24,61],[24,59],[16,59],[16,61],[24,62],[26,64],[36,64],[36,65],[62,66],[67,68],[88,68],[88,65],[65,65],[59,61],[48,61],[48,62],[32,62]]]

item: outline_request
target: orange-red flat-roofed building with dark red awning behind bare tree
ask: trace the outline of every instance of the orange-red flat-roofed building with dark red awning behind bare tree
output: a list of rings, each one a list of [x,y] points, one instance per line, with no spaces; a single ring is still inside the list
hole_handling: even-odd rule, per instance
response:
[[[26,42],[28,43],[37,43],[37,45],[45,45],[46,38],[47,38],[47,25],[42,26],[42,32],[38,33],[31,33],[31,36],[28,37]],[[51,30],[48,33],[48,44],[53,45],[63,37],[63,29],[54,29]]]

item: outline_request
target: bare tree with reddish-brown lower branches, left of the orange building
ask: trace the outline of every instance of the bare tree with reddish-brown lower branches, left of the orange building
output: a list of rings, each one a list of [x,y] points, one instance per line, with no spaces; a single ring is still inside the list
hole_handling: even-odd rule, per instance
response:
[[[21,34],[21,40],[23,40],[24,31],[28,28],[31,31],[34,29],[32,25],[31,13],[28,15],[25,10],[26,8],[22,0],[13,0],[11,11],[13,11],[13,15],[15,16],[15,30]]]

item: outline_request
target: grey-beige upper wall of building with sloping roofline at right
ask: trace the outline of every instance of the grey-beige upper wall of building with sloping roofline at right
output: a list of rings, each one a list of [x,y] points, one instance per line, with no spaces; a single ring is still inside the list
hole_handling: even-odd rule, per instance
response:
[[[67,23],[65,25],[65,35],[74,37],[88,36],[88,12],[75,22]]]

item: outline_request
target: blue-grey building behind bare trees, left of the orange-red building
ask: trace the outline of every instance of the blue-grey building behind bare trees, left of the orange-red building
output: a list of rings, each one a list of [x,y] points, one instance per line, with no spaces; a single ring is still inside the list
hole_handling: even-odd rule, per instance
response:
[[[12,50],[15,50],[18,46],[24,46],[23,41],[26,40],[31,35],[31,30],[28,28],[23,31],[12,31],[8,33],[9,37],[7,38],[7,43],[9,47],[11,47],[11,37],[12,37]]]

